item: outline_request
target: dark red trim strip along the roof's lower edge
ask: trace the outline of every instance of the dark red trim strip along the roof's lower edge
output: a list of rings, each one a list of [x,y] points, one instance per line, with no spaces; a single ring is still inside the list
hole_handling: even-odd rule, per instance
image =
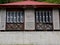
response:
[[[24,5],[22,5],[22,6],[19,6],[19,5],[7,5],[7,6],[5,6],[5,5],[1,5],[0,6],[0,8],[60,8],[60,5],[41,5],[41,6],[39,6],[39,5],[31,5],[31,6],[29,6],[29,5],[26,5],[26,6],[24,6]]]

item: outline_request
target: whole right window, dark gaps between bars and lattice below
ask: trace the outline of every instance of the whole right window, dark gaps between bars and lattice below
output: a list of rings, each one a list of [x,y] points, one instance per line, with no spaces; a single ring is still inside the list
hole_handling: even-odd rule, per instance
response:
[[[36,30],[52,30],[52,11],[36,10]]]

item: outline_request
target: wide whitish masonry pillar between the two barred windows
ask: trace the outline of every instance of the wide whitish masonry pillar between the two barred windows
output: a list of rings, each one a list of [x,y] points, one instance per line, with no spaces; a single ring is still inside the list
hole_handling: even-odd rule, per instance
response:
[[[25,10],[25,30],[35,30],[35,12],[34,10]]]

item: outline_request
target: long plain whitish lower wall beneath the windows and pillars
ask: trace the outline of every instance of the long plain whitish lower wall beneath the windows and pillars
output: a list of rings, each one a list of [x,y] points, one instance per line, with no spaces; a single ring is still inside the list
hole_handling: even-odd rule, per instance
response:
[[[60,45],[60,32],[0,32],[0,44]]]

